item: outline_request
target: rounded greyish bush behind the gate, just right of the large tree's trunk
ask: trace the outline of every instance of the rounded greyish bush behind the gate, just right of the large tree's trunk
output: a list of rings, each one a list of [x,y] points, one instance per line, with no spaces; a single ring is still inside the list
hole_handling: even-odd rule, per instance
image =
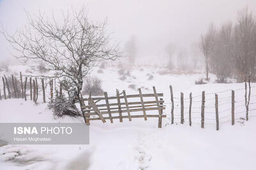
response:
[[[83,95],[88,95],[90,92],[92,96],[100,96],[103,94],[101,87],[102,81],[97,77],[88,77],[84,82]]]

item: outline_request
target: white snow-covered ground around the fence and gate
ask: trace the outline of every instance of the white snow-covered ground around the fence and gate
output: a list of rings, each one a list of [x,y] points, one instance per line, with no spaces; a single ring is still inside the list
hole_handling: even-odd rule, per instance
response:
[[[143,68],[143,70],[141,69]],[[16,69],[16,70],[15,70]],[[20,67],[11,67],[10,74],[19,73]],[[25,70],[25,69],[24,69]],[[203,73],[175,74],[157,67],[135,67],[130,76],[120,80],[118,68],[102,69],[103,73],[92,75],[102,80],[102,89],[114,96],[116,89],[126,90],[127,94],[152,92],[164,93],[166,110],[163,128],[157,128],[157,118],[124,119],[111,124],[91,121],[90,145],[6,145],[0,147],[0,169],[256,169],[256,83],[252,85],[249,121],[245,117],[244,83],[213,83],[195,85],[195,80]],[[22,70],[21,70],[22,71]],[[24,71],[22,71],[23,73]],[[148,74],[149,73],[149,74]],[[148,78],[153,76],[152,80]],[[135,90],[128,88],[136,85]],[[175,98],[175,124],[170,121],[170,89],[173,86]],[[236,124],[231,125],[231,89],[236,96]],[[205,90],[205,128],[200,128],[201,92]],[[179,97],[184,92],[185,124],[181,125]],[[189,92],[193,96],[192,127],[188,125]],[[216,131],[214,93],[219,95],[220,131]],[[42,97],[41,97],[42,98]],[[47,104],[35,105],[32,101],[8,99],[0,101],[0,122],[83,122],[83,118],[54,118]],[[212,107],[213,106],[213,107]],[[199,117],[199,118],[198,118]]]

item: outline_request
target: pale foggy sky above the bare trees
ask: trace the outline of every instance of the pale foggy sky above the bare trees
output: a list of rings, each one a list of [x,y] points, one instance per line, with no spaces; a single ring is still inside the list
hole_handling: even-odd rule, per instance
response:
[[[87,6],[91,20],[108,18],[108,31],[113,32],[113,38],[125,43],[135,36],[138,55],[158,59],[170,42],[189,47],[211,22],[220,25],[227,20],[235,21],[237,11],[246,6],[256,11],[255,0],[0,0],[0,21],[4,29],[13,33],[26,24],[24,10],[51,14],[83,5]],[[1,35],[0,45],[0,62],[3,62],[10,59],[8,50],[12,48]]]

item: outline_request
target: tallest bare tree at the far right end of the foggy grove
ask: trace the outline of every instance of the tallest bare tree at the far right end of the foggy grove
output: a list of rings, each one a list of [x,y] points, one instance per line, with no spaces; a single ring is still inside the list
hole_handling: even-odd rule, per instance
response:
[[[239,11],[237,24],[234,28],[234,44],[237,74],[240,80],[250,75],[255,79],[256,67],[256,25],[255,19],[248,8]]]

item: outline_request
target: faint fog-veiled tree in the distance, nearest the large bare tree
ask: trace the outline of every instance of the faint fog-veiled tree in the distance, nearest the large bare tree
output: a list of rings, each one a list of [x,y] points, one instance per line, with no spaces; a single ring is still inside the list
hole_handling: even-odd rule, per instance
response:
[[[127,57],[129,60],[129,64],[134,65],[135,58],[137,55],[137,47],[136,47],[136,38],[132,36],[129,41],[125,43],[125,51],[127,52]]]

